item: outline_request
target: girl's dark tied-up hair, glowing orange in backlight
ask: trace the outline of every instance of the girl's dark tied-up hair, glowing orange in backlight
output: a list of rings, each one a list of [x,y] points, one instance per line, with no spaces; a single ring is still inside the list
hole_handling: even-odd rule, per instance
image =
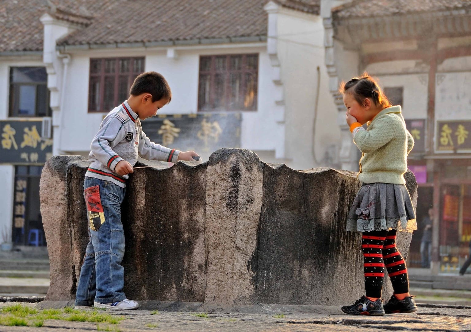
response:
[[[382,108],[391,106],[379,84],[366,72],[360,77],[353,77],[347,83],[340,83],[339,92],[341,94],[350,93],[360,105],[364,105],[365,98],[371,98],[376,106]]]

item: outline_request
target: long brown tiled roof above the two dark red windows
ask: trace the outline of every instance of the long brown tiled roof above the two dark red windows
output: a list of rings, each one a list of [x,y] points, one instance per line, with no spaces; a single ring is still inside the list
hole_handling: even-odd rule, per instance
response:
[[[304,0],[307,1],[307,0]],[[267,0],[132,0],[102,12],[58,45],[267,35]]]

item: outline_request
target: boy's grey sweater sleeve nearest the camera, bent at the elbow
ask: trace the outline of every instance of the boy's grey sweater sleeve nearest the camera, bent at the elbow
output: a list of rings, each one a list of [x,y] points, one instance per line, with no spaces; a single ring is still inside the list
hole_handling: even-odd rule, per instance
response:
[[[112,171],[114,171],[116,165],[123,160],[113,151],[113,148],[122,141],[124,136],[124,124],[119,118],[114,116],[109,119],[106,124],[103,124],[91,142],[90,149],[95,158]]]

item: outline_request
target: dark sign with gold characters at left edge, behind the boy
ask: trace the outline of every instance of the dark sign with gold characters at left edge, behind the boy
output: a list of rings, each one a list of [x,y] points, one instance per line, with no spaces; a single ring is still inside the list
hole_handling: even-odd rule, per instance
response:
[[[42,121],[0,121],[0,163],[44,164],[52,156],[52,139],[41,138]]]

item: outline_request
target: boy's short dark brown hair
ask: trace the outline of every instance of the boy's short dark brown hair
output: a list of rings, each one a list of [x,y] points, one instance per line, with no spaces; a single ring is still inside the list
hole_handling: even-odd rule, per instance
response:
[[[172,100],[172,91],[170,90],[167,80],[157,72],[145,72],[134,80],[132,83],[129,94],[138,96],[142,93],[150,93],[152,95],[152,102],[161,100],[162,98]]]

